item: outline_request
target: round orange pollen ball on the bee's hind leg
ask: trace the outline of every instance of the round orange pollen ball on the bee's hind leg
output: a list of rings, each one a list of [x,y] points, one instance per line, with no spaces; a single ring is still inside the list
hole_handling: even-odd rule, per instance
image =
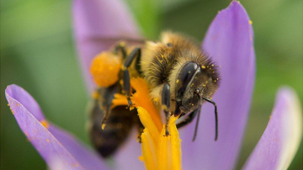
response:
[[[118,81],[120,66],[121,60],[117,55],[104,51],[93,59],[90,71],[98,86],[108,87]]]

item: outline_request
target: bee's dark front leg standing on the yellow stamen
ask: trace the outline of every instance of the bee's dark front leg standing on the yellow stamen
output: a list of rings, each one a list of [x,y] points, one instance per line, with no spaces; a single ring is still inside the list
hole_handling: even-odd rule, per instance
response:
[[[163,85],[162,90],[162,108],[165,113],[165,136],[170,135],[170,131],[168,130],[168,121],[170,119],[170,85],[168,83],[165,83]]]

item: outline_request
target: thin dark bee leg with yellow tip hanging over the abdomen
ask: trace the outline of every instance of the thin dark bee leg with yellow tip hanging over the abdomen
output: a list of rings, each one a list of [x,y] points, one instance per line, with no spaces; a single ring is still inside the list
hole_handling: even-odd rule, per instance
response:
[[[112,105],[112,100],[114,99],[115,93],[118,92],[118,87],[119,84],[116,83],[110,87],[108,87],[104,93],[104,102],[102,103],[102,106],[105,108],[105,114],[102,120],[102,129],[105,128],[106,126],[106,121],[111,113],[111,105]]]

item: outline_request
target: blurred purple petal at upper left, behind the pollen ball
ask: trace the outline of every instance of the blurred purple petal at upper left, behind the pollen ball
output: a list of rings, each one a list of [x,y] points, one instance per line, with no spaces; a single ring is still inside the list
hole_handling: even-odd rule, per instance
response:
[[[110,49],[120,39],[141,39],[138,27],[124,2],[119,0],[75,0],[75,39],[88,92],[95,87],[89,68],[93,57]]]

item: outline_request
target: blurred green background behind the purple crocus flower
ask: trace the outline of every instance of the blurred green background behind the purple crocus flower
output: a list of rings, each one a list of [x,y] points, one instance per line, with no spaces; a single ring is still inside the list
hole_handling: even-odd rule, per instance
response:
[[[230,0],[127,0],[147,37],[164,29],[202,40],[217,14]],[[261,137],[273,108],[275,93],[289,85],[303,96],[302,0],[241,1],[255,32],[256,88],[237,169]],[[9,84],[26,89],[48,120],[89,143],[84,131],[87,95],[76,57],[71,2],[0,1],[1,154],[2,169],[45,169],[11,114],[4,90]],[[302,169],[302,142],[289,169]]]

